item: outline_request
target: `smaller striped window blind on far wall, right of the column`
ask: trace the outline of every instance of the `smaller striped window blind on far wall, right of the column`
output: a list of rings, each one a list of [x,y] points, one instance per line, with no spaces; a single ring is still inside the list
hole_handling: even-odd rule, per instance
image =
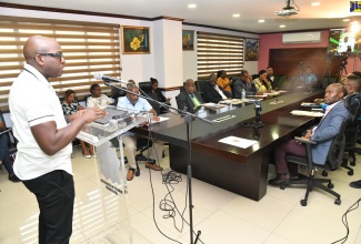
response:
[[[229,77],[239,75],[243,68],[243,42],[241,37],[197,32],[198,79],[225,70]]]

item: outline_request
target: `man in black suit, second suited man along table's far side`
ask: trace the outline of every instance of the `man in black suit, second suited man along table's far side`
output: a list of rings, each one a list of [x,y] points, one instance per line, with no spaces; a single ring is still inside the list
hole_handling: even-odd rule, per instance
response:
[[[231,99],[231,95],[217,84],[217,77],[214,73],[209,75],[209,83],[202,91],[204,100],[207,102],[218,103],[222,100]]]

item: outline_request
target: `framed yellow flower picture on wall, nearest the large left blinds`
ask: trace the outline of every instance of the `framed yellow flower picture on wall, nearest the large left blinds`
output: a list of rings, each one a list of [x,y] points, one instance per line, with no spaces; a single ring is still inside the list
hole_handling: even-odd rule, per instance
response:
[[[124,54],[150,53],[149,27],[122,27]]]

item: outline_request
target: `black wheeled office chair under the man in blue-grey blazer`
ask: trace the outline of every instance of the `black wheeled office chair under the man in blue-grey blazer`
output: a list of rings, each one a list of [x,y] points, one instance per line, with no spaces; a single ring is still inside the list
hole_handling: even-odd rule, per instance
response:
[[[310,170],[310,175],[300,175],[300,179],[298,180],[290,180],[287,182],[283,182],[280,186],[280,189],[284,190],[289,185],[307,185],[307,191],[304,199],[300,201],[302,206],[307,205],[307,201],[309,197],[310,192],[314,187],[319,187],[322,191],[325,191],[332,195],[334,195],[337,199],[334,200],[334,204],[340,205],[341,204],[341,195],[334,191],[333,184],[331,183],[331,180],[329,179],[315,179],[314,173],[317,169],[325,170],[325,171],[335,171],[342,163],[342,156],[343,156],[343,151],[344,151],[344,143],[345,143],[345,136],[344,136],[344,130],[347,125],[351,122],[351,118],[347,119],[345,121],[342,122],[341,128],[340,128],[340,133],[338,133],[332,141],[332,144],[330,146],[330,151],[328,153],[328,159],[324,165],[315,164],[313,163],[312,160],[312,152],[311,152],[311,146],[317,144],[314,141],[309,141],[309,140],[303,140],[301,138],[295,138],[297,141],[300,141],[304,143],[305,145],[305,152],[307,156],[295,156],[295,155],[287,155],[285,161],[289,163],[295,163],[302,166],[305,166],[308,170]],[[328,185],[325,186],[324,183]]]

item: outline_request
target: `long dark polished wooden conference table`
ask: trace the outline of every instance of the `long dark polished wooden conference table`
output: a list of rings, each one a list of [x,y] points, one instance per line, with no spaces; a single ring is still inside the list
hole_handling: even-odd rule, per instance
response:
[[[290,112],[301,109],[301,102],[312,102],[323,98],[323,91],[310,94],[290,93],[262,101],[261,121],[263,128],[255,130],[242,126],[240,122],[252,124],[254,105],[228,109],[207,119],[231,118],[222,122],[207,124],[200,120],[191,123],[192,176],[215,186],[259,201],[267,192],[268,165],[273,150],[292,139],[317,121],[312,116],[297,116]],[[277,104],[272,104],[278,101]],[[282,102],[281,102],[282,101]],[[164,114],[162,114],[164,115]],[[154,124],[150,129],[153,138],[169,142],[170,167],[187,172],[187,126],[183,118],[168,113],[170,120]],[[148,135],[148,131],[133,129]],[[227,136],[257,140],[247,149],[218,142]]]

